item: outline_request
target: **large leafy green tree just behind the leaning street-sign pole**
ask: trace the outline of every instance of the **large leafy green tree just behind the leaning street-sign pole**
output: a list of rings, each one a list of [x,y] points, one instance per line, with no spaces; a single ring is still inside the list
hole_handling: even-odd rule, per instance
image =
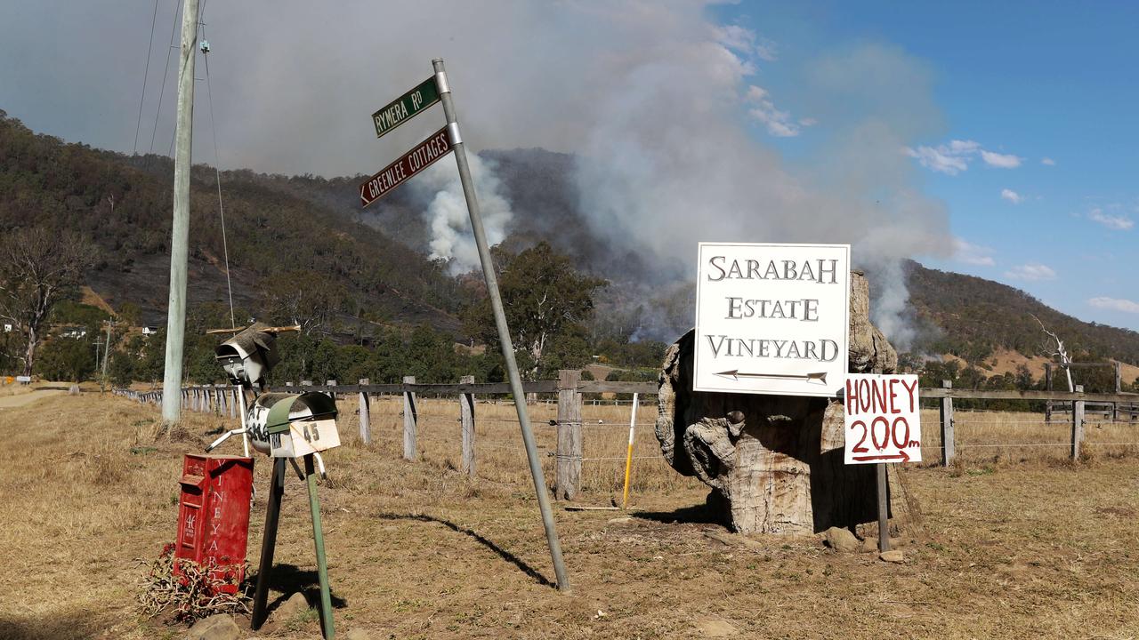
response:
[[[510,338],[526,377],[536,379],[549,372],[552,352],[559,352],[557,367],[584,363],[589,358],[584,322],[593,312],[595,292],[608,282],[579,273],[568,257],[547,243],[514,255],[499,248],[494,253],[495,262],[501,264],[499,289]],[[465,309],[462,318],[470,335],[497,347],[498,333],[487,298]],[[571,343],[577,346],[574,353],[565,351]]]

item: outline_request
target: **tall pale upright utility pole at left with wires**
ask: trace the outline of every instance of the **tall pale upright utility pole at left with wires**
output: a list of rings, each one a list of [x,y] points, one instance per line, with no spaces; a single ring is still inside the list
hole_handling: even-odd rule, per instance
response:
[[[186,337],[186,279],[190,239],[190,151],[194,129],[194,58],[197,55],[198,0],[182,5],[182,46],[178,65],[178,121],[174,143],[174,222],[170,240],[170,303],[166,305],[166,364],[163,387],[182,384],[182,343]],[[162,419],[177,422],[177,393],[163,396]]]

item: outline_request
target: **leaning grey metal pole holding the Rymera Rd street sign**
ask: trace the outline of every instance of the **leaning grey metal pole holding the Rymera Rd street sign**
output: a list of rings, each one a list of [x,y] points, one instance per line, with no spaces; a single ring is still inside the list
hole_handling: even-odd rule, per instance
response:
[[[491,261],[490,245],[486,244],[486,231],[478,212],[478,199],[475,196],[474,181],[470,179],[470,166],[467,164],[467,150],[459,136],[459,121],[451,99],[451,87],[446,82],[443,59],[432,60],[435,67],[435,83],[443,101],[443,113],[446,116],[448,129],[451,130],[451,146],[454,148],[454,162],[459,167],[459,180],[462,182],[462,194],[467,199],[467,212],[470,214],[470,228],[478,247],[478,262],[486,279],[486,294],[491,298],[491,310],[494,312],[494,326],[498,328],[499,345],[502,347],[502,360],[510,380],[510,394],[518,411],[518,427],[522,429],[522,441],[526,445],[526,459],[530,461],[530,475],[534,481],[534,494],[538,497],[538,509],[542,515],[542,526],[546,528],[546,541],[550,547],[550,559],[554,561],[554,573],[557,576],[558,589],[570,591],[570,580],[566,576],[565,563],[562,560],[562,543],[554,526],[554,510],[547,494],[546,481],[542,477],[542,463],[538,458],[534,434],[530,428],[530,416],[526,411],[526,394],[522,387],[522,376],[518,375],[518,363],[514,359],[514,344],[510,340],[510,329],[506,323],[506,312],[502,310],[502,297],[499,294],[498,277],[494,274],[494,263]]]

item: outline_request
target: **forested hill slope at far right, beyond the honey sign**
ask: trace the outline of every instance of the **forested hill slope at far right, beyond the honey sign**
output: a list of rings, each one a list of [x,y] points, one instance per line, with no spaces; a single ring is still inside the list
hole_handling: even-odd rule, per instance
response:
[[[1083,322],[992,280],[926,269],[907,261],[910,305],[921,327],[918,347],[978,362],[1007,348],[1044,355],[1048,337],[1033,315],[1065,340],[1076,361],[1115,359],[1139,366],[1139,333]],[[1055,343],[1051,345],[1055,347]]]

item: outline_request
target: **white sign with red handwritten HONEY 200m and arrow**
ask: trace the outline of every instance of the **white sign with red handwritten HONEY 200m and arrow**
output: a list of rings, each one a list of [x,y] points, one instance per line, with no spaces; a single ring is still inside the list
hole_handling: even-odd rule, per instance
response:
[[[851,374],[844,400],[847,465],[921,460],[917,376]]]

